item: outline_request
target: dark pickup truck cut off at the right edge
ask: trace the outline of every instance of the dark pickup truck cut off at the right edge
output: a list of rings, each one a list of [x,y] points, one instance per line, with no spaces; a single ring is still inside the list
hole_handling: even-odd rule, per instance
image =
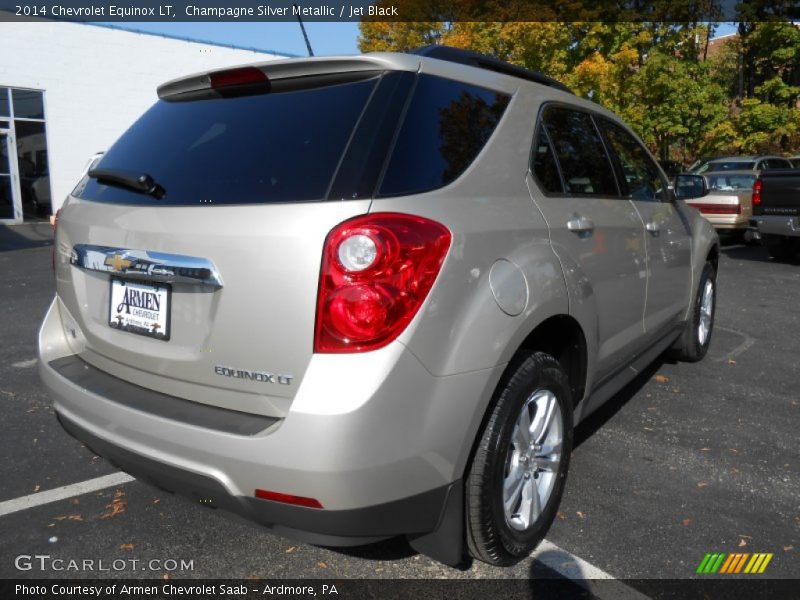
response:
[[[769,255],[778,260],[800,249],[800,169],[762,171],[753,184],[753,217]]]

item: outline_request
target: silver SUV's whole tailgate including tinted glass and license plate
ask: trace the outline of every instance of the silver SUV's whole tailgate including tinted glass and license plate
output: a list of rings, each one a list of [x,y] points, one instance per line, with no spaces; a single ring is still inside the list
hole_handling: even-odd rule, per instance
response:
[[[76,353],[146,388],[285,413],[313,353],[324,240],[367,212],[362,154],[384,156],[374,144],[391,139],[384,121],[393,130],[412,79],[329,74],[160,100],[60,215],[57,289]]]

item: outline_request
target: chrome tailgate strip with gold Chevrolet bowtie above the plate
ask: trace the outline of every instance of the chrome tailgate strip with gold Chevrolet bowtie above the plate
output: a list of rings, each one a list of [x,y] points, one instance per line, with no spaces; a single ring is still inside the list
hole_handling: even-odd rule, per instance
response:
[[[195,256],[75,244],[69,262],[87,271],[131,279],[222,287],[222,277],[214,263]]]

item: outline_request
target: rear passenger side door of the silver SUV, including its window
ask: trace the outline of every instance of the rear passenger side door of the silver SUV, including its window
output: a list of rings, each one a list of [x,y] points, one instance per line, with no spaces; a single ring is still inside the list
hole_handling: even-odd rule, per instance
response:
[[[530,188],[553,248],[564,269],[585,282],[571,290],[570,311],[596,318],[602,379],[629,361],[641,343],[647,283],[641,219],[620,197],[588,112],[546,105],[531,167]]]

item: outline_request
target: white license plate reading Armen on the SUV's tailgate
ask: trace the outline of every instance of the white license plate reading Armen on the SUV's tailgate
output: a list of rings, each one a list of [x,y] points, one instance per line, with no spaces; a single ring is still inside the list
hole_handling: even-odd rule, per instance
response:
[[[114,329],[169,340],[169,284],[111,279],[108,324]]]

